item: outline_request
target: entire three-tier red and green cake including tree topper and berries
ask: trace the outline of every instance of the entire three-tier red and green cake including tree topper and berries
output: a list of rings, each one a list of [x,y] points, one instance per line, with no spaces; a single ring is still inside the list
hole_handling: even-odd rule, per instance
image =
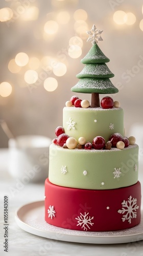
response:
[[[73,96],[63,108],[63,125],[50,146],[45,221],[81,231],[121,230],[140,223],[138,145],[124,136],[120,103],[108,96],[100,103],[99,94],[118,90],[97,45],[102,31],[93,26],[87,33],[93,46],[71,91],[91,93],[91,104]]]

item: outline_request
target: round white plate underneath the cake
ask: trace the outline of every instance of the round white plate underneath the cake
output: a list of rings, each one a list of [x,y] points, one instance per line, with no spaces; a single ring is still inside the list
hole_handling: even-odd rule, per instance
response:
[[[88,244],[120,244],[143,240],[143,210],[141,216],[139,225],[121,231],[70,230],[47,224],[44,220],[44,201],[39,201],[20,207],[16,212],[15,220],[23,230],[44,238]]]

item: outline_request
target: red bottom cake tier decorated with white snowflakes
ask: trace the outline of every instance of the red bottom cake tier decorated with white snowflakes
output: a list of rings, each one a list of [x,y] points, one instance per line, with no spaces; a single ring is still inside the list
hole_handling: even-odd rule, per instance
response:
[[[108,190],[61,187],[45,180],[45,221],[87,231],[114,231],[140,223],[140,183]]]

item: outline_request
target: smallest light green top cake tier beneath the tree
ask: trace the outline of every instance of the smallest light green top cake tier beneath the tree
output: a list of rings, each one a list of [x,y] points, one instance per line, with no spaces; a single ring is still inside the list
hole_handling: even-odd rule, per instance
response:
[[[124,136],[124,112],[122,108],[63,108],[63,127],[70,137],[84,137],[92,143],[93,138],[102,136],[106,142],[114,133]]]

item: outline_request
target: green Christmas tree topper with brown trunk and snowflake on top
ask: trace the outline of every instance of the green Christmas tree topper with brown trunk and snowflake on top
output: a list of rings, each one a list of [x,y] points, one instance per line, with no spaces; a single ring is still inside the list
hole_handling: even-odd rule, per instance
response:
[[[79,82],[71,88],[71,91],[78,93],[91,93],[91,108],[100,107],[99,94],[117,93],[109,78],[114,74],[109,70],[106,62],[110,60],[103,54],[98,47],[98,41],[102,41],[101,33],[103,30],[98,30],[95,25],[88,32],[89,38],[87,41],[92,42],[92,47],[87,55],[81,60],[86,64],[84,69],[77,75],[80,78]]]

